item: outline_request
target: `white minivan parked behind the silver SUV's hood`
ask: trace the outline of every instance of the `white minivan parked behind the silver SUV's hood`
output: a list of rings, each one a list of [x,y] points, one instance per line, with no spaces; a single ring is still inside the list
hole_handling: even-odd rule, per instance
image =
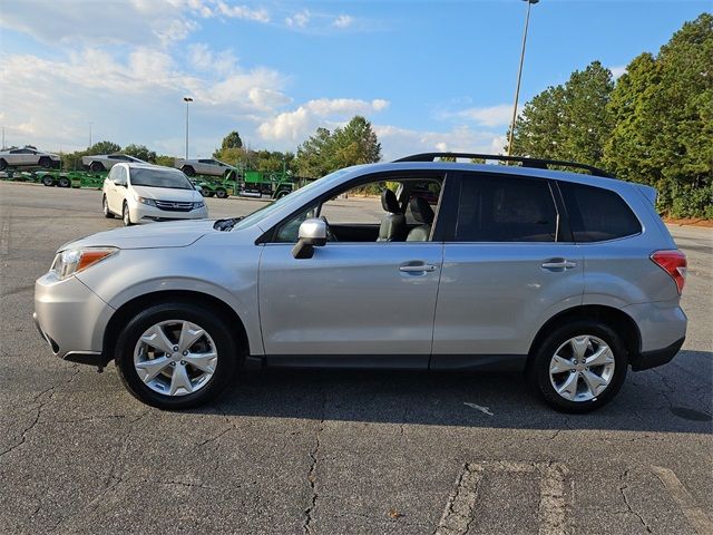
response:
[[[124,225],[208,216],[203,195],[180,171],[149,164],[117,164],[104,181],[104,216]]]

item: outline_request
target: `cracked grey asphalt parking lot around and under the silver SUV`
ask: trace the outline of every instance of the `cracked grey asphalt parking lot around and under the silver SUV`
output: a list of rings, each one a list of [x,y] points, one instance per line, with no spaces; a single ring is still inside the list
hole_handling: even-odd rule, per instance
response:
[[[508,373],[254,372],[148,408],[31,320],[56,249],[119,225],[99,192],[0,183],[0,533],[713,533],[713,228],[673,228],[682,352],[565,416]]]

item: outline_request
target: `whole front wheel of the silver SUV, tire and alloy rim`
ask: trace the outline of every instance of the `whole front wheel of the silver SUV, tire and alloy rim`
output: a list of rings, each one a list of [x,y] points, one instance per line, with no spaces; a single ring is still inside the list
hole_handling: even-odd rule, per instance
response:
[[[160,409],[187,409],[214,399],[237,368],[228,325],[209,308],[163,303],[139,312],[116,346],[124,386]]]

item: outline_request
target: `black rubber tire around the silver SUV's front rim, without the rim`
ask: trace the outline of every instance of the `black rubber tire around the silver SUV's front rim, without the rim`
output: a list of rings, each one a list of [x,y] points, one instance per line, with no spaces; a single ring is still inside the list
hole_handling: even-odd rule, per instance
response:
[[[199,390],[184,396],[168,396],[149,388],[136,372],[134,351],[141,334],[162,321],[185,320],[201,325],[215,342],[218,359],[213,376]],[[197,407],[215,399],[235,377],[241,356],[231,327],[211,307],[167,302],[140,311],[118,337],[115,359],[121,382],[138,400],[167,410]]]

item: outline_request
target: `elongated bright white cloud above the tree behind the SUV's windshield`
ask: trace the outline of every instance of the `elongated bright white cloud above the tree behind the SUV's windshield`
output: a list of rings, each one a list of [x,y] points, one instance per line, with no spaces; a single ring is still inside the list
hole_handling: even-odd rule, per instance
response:
[[[359,100],[353,98],[320,98],[310,100],[294,111],[285,111],[257,128],[265,140],[302,142],[318,126],[333,126],[351,118],[353,115],[368,115],[382,111],[389,106],[388,100]]]

